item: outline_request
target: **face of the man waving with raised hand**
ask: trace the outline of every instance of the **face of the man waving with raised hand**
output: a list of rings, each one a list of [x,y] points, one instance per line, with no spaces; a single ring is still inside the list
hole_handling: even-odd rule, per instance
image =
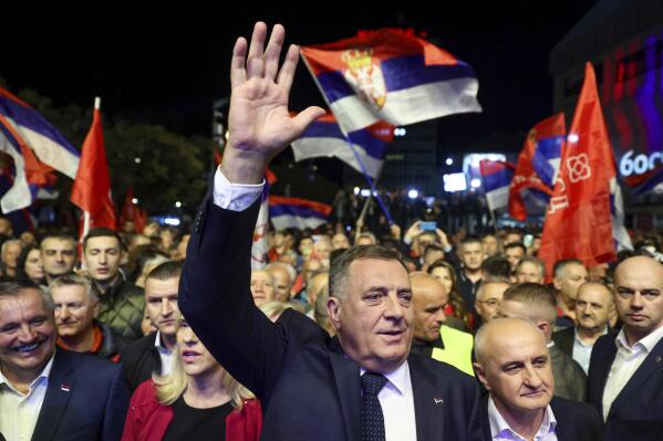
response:
[[[328,301],[343,350],[364,369],[389,372],[405,361],[412,343],[412,288],[397,261],[355,260],[342,297]]]

